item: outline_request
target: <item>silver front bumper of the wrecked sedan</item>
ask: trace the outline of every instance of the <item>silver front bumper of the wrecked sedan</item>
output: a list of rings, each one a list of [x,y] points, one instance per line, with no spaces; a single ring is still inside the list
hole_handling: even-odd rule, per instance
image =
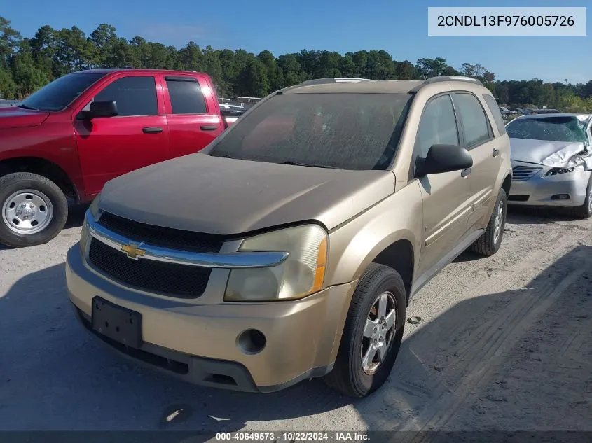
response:
[[[577,167],[573,172],[544,177],[550,167],[542,167],[534,177],[512,181],[508,204],[522,206],[581,206],[586,199],[586,188],[591,171]],[[558,199],[568,195],[568,199]]]

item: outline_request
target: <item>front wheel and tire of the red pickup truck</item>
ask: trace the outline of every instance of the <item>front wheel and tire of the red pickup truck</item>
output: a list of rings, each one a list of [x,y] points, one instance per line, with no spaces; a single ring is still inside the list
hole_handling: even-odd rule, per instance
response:
[[[68,218],[66,196],[48,178],[16,172],[0,178],[0,243],[14,248],[47,243]]]

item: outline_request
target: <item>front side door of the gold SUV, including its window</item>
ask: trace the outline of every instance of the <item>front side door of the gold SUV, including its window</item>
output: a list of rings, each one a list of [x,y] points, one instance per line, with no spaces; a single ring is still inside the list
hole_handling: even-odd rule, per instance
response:
[[[435,144],[460,145],[460,132],[450,94],[427,102],[415,139],[413,157],[425,158]],[[449,253],[467,230],[471,210],[469,183],[461,171],[419,178],[423,199],[423,244],[418,275]]]

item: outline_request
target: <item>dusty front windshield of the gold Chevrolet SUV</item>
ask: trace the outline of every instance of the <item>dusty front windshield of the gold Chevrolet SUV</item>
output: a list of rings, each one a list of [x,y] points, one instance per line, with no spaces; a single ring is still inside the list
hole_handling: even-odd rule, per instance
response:
[[[209,155],[338,169],[389,167],[411,94],[277,94]]]

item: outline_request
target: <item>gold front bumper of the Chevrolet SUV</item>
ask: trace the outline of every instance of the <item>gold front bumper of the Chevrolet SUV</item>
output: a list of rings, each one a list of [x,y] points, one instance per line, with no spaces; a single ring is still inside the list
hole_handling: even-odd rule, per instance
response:
[[[139,349],[92,331],[118,351],[194,384],[236,391],[272,392],[331,371],[355,282],[331,286],[302,300],[195,304],[125,288],[90,269],[78,244],[66,261],[68,295],[86,328],[92,298],[99,296],[142,315]],[[237,337],[263,332],[266,345],[243,353]]]

